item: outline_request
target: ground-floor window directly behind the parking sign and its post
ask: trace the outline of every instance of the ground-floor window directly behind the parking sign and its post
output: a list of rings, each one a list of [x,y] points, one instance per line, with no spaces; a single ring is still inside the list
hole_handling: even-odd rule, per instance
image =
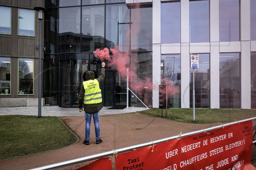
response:
[[[195,107],[210,108],[210,55],[198,54],[199,68],[195,69]],[[189,102],[193,107],[193,69],[189,69]]]

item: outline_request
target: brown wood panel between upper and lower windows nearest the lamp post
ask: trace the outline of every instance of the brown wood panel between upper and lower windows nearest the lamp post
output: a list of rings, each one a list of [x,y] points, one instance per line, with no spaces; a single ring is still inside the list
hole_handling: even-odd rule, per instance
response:
[[[18,38],[18,55],[35,56],[35,40]]]

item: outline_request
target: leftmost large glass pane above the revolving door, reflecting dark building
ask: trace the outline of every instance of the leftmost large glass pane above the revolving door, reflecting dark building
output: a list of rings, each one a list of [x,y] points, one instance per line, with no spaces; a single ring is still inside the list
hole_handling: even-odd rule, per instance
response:
[[[59,52],[80,52],[80,7],[60,8]],[[104,28],[103,28],[104,29]],[[85,35],[83,35],[85,36]]]

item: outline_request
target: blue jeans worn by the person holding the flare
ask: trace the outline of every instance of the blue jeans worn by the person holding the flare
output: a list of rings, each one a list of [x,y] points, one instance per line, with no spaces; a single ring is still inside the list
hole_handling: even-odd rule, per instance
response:
[[[90,140],[90,126],[93,116],[96,140],[100,140],[100,111],[96,113],[84,113],[85,116],[85,140]]]

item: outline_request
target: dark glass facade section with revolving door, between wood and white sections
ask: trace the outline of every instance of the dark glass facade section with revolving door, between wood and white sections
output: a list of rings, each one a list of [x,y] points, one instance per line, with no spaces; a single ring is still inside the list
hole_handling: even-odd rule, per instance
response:
[[[125,1],[59,1],[59,5],[49,1],[46,8],[49,11],[45,17],[49,20],[45,21],[44,69],[49,71],[44,77],[50,78],[44,83],[46,104],[78,107],[84,72],[100,73],[101,62],[93,51],[118,47],[121,55],[129,52],[133,58],[127,68],[136,75],[130,88],[139,99],[125,94],[124,75],[107,63],[101,85],[103,106],[126,106],[129,97],[130,106],[142,107],[143,100],[152,107],[152,89],[144,91],[138,87],[146,79],[152,80],[152,5],[128,8]],[[120,103],[115,99],[116,83],[123,89]]]

